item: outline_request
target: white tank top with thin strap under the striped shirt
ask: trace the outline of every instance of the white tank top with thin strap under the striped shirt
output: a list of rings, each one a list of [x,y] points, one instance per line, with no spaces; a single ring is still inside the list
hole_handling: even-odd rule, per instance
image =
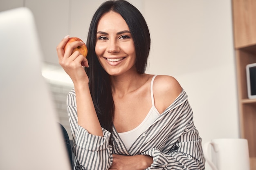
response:
[[[121,132],[118,133],[119,137],[124,142],[126,148],[129,150],[132,144],[135,142],[135,140],[159,117],[160,113],[155,108],[155,102],[154,102],[154,96],[153,96],[153,82],[157,75],[154,75],[154,77],[151,80],[150,85],[150,91],[151,91],[151,101],[152,101],[152,107],[148,112],[148,115],[145,117],[145,119],[137,126],[136,128],[128,131],[128,132]]]

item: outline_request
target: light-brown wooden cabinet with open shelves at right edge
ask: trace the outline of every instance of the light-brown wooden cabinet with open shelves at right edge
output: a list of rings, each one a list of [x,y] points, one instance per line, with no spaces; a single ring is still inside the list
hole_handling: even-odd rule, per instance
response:
[[[256,99],[248,99],[246,65],[256,63],[256,0],[232,0],[241,138],[248,140],[256,170]]]

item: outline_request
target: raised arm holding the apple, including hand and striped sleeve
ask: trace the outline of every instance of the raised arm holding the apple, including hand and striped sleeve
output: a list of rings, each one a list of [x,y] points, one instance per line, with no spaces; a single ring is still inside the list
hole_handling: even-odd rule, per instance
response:
[[[75,92],[68,94],[67,110],[74,139],[73,152],[76,169],[107,170],[112,163],[112,147],[109,146],[110,132],[101,128],[89,90],[89,79],[83,66],[88,61],[73,49],[83,42],[72,42],[64,52],[68,36],[57,46],[60,65],[73,81]]]

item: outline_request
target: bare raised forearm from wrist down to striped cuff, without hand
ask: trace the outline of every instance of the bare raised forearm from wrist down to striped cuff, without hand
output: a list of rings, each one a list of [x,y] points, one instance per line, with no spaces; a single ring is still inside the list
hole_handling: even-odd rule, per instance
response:
[[[88,84],[75,85],[78,124],[90,134],[103,136]]]

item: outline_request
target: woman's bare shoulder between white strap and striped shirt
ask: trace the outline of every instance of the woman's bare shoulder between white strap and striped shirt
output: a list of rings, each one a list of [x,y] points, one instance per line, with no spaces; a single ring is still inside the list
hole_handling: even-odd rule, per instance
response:
[[[155,107],[162,113],[182,92],[180,83],[172,76],[157,75],[153,84]]]

